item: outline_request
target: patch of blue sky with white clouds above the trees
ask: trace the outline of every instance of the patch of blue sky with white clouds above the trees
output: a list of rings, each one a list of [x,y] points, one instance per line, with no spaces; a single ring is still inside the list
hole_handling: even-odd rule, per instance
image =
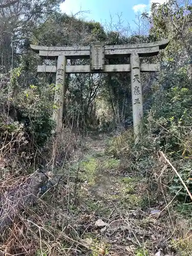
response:
[[[166,0],[66,0],[60,9],[67,14],[75,14],[80,10],[89,11],[90,13],[83,14],[84,18],[101,23],[109,23],[111,16],[116,23],[118,14],[121,15],[124,25],[128,22],[134,26],[135,14],[144,10],[149,11],[153,2],[162,4]]]

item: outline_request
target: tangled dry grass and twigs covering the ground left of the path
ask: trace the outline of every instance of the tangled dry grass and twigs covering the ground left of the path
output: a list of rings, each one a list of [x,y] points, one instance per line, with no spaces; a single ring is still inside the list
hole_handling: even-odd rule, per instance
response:
[[[20,134],[15,133],[13,137],[18,145]],[[66,129],[48,142],[49,152],[46,147],[44,151],[37,148],[33,160],[35,163],[36,159],[44,157],[44,173],[31,170],[31,165],[26,161],[22,166],[23,148],[18,147],[15,153],[15,141],[4,142],[1,148],[2,255],[59,255],[61,245],[57,241],[66,236],[64,230],[69,218],[68,205],[71,194],[61,178],[65,176],[66,161],[74,155],[77,136],[70,129]],[[53,150],[50,151],[50,148]],[[62,175],[59,176],[58,173]],[[47,186],[49,180],[50,187]],[[45,185],[47,191],[41,190]],[[42,252],[44,250],[45,253]]]

